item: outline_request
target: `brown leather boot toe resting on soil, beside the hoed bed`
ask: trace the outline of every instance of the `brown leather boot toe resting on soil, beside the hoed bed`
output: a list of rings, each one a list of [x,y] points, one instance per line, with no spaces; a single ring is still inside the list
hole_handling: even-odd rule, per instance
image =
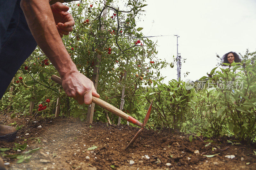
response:
[[[16,138],[17,130],[12,126],[0,125],[0,140],[13,141]]]

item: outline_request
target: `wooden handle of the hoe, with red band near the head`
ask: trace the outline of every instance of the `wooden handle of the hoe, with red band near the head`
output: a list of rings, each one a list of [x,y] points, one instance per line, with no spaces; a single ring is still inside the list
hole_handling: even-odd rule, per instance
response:
[[[52,75],[51,79],[53,81],[55,81],[56,83],[62,85],[62,80],[58,76]],[[136,124],[136,125],[138,125],[140,127],[143,127],[141,122],[139,122],[138,120],[134,119],[132,116],[127,115],[126,113],[124,113],[123,111],[119,110],[118,108],[112,106],[111,104],[107,103],[106,101],[101,100],[100,98],[92,96],[92,102],[97,104],[98,106],[108,110],[109,112],[111,112],[111,113],[113,113],[113,114],[115,114],[115,115],[117,115],[119,117],[122,117],[123,119],[127,120],[128,122],[131,122],[131,123]]]

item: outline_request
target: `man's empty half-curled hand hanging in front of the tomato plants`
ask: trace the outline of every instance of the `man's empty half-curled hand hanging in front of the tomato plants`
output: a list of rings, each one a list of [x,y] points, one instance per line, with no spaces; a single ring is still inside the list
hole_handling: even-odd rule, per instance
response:
[[[60,2],[51,5],[53,18],[61,38],[63,37],[63,34],[68,35],[75,25],[74,18],[67,12],[68,9],[68,6],[61,4]]]

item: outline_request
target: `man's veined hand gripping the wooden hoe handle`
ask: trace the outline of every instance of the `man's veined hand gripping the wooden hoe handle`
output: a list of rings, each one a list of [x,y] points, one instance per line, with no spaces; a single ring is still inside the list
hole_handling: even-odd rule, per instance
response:
[[[93,82],[78,71],[62,77],[62,87],[66,94],[77,100],[79,104],[89,105],[92,103],[92,96],[100,97]]]

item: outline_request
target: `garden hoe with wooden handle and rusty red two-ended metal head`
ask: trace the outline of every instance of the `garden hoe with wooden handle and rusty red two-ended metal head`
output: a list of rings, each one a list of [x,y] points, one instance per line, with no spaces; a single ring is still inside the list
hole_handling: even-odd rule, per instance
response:
[[[55,81],[56,83],[62,85],[62,80],[58,76],[52,75],[51,79],[53,81]],[[148,118],[149,118],[149,115],[150,115],[150,111],[151,111],[153,100],[150,103],[150,106],[148,108],[148,112],[147,112],[147,114],[146,114],[146,116],[144,118],[143,123],[139,122],[138,120],[136,120],[132,116],[127,115],[123,111],[119,110],[118,108],[112,106],[111,104],[109,104],[106,101],[103,101],[103,100],[101,100],[101,99],[99,99],[97,97],[92,96],[92,102],[97,104],[98,106],[108,110],[109,112],[111,112],[111,113],[113,113],[113,114],[115,114],[115,115],[117,115],[119,117],[122,117],[123,119],[127,120],[128,122],[131,122],[131,123],[136,124],[136,125],[141,127],[140,130],[136,133],[136,135],[132,138],[130,143],[126,146],[126,148],[125,148],[125,150],[126,150],[129,146],[131,146],[131,144],[133,144],[133,142],[137,139],[137,137],[139,137],[140,133],[142,132],[142,130],[144,129],[146,123],[148,122]]]

